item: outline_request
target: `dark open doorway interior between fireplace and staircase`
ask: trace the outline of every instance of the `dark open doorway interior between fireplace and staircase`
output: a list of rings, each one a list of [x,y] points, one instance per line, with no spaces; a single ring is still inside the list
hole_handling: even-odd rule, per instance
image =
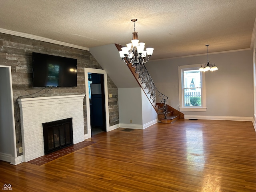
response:
[[[106,113],[103,74],[88,73],[90,120],[92,135],[106,132]]]

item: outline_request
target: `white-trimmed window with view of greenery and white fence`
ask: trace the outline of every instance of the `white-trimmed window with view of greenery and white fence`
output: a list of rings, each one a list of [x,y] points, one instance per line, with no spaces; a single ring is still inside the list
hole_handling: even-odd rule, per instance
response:
[[[180,111],[206,111],[205,74],[200,66],[178,66]]]

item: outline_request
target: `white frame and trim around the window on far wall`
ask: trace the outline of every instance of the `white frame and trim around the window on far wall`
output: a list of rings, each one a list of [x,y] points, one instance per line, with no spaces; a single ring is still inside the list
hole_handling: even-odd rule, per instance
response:
[[[184,71],[199,70],[201,64],[182,65],[178,66],[179,76],[179,108],[180,111],[206,111],[206,85],[205,85],[205,73],[201,73],[201,106],[184,106]]]

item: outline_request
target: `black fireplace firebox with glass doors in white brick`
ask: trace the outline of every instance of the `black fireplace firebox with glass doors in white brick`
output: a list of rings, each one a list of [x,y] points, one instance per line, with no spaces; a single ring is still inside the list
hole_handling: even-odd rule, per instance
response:
[[[44,154],[73,145],[72,118],[43,123]]]

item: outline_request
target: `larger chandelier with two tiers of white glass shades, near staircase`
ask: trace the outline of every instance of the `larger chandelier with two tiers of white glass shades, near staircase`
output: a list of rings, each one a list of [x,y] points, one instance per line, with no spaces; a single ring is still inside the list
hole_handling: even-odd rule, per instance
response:
[[[144,51],[145,43],[139,42],[138,33],[135,31],[135,22],[137,19],[132,19],[134,22],[134,32],[132,32],[132,43],[126,44],[127,47],[122,47],[122,51],[119,51],[120,57],[126,64],[132,64],[136,67],[137,64],[148,62],[149,58],[153,54],[154,48],[146,48]]]

